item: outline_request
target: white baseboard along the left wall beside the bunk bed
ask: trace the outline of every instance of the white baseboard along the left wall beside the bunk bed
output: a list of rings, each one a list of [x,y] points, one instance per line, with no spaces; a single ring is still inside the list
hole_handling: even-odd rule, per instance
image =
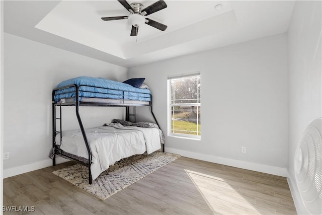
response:
[[[56,164],[61,164],[61,163],[67,162],[67,161],[69,161],[69,160],[61,158],[61,157],[56,158]],[[48,158],[46,160],[38,161],[35,163],[20,166],[20,167],[13,167],[13,168],[9,168],[9,169],[4,169],[4,178],[12,177],[15,175],[20,175],[20,174],[23,174],[26,172],[39,170],[39,169],[42,169],[45,167],[50,167],[50,166],[52,166],[52,160]]]

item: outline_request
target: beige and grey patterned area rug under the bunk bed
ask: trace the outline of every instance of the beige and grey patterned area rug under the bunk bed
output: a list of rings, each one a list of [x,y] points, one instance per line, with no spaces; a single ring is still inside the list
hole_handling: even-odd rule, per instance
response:
[[[89,184],[88,168],[81,164],[56,170],[53,174],[105,200],[179,157],[172,153],[154,152],[125,158],[101,173],[92,184]]]

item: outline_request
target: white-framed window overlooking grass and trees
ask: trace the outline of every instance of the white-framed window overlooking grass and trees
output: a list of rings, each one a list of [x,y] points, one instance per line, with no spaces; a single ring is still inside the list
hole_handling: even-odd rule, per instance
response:
[[[200,74],[168,78],[169,134],[200,138]]]

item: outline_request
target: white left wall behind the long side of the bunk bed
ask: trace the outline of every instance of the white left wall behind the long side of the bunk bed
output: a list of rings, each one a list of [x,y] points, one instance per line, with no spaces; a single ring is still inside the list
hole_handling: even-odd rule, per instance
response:
[[[4,177],[50,166],[52,89],[77,76],[127,78],[127,68],[4,34]],[[122,117],[124,108],[81,107],[85,127]],[[63,112],[64,128],[78,128],[74,109]],[[27,166],[24,166],[27,165]],[[28,169],[29,168],[29,169]]]

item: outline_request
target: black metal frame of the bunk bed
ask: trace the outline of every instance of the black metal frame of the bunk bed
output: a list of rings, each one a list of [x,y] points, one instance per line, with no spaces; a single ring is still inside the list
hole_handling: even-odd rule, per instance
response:
[[[92,184],[92,174],[91,174],[92,152],[91,152],[91,149],[90,149],[90,146],[89,146],[88,138],[87,138],[87,135],[86,135],[86,132],[85,132],[85,129],[84,129],[84,125],[83,125],[81,116],[79,115],[79,107],[81,107],[81,106],[125,107],[125,110],[126,110],[126,119],[125,120],[130,121],[129,118],[134,117],[134,122],[135,122],[135,120],[136,120],[135,108],[137,106],[149,106],[151,114],[152,114],[152,116],[153,116],[153,118],[155,120],[155,123],[159,126],[159,128],[160,128],[160,125],[157,122],[157,120],[155,118],[155,115],[153,113],[153,110],[152,110],[152,95],[151,94],[140,93],[140,94],[146,94],[146,95],[148,95],[148,97],[150,97],[150,101],[149,101],[148,104],[127,104],[127,103],[125,103],[126,100],[124,99],[125,93],[131,93],[132,91],[124,91],[124,90],[115,90],[115,89],[109,89],[109,88],[96,87],[96,88],[101,88],[104,91],[106,90],[106,92],[100,93],[100,94],[104,94],[106,96],[107,95],[120,96],[119,93],[115,94],[113,92],[121,92],[122,98],[118,98],[117,100],[121,100],[122,103],[82,102],[82,101],[79,101],[79,98],[80,98],[79,93],[80,92],[88,92],[88,91],[79,90],[80,87],[93,87],[93,86],[88,86],[88,85],[79,85],[79,86],[77,86],[76,84],[73,84],[73,85],[68,85],[68,86],[64,86],[64,87],[58,87],[58,88],[53,89],[53,91],[52,91],[52,146],[53,146],[53,149],[54,149],[53,166],[56,165],[56,159],[55,159],[56,154],[59,154],[58,151],[57,151],[57,145],[56,145],[56,135],[58,133],[61,134],[61,132],[62,132],[62,112],[61,112],[61,107],[63,107],[63,106],[74,106],[77,121],[78,121],[78,125],[79,125],[79,128],[81,128],[81,132],[82,132],[82,135],[83,135],[83,138],[84,138],[84,141],[85,141],[85,145],[86,145],[86,148],[87,148],[87,151],[88,151],[88,154],[89,154],[88,164],[83,163],[83,162],[78,161],[78,160],[75,160],[74,158],[68,157],[66,155],[62,155],[61,153],[59,154],[59,156],[88,166],[88,168],[89,168],[89,184]],[[55,98],[54,98],[55,95],[65,94],[66,93],[66,92],[63,92],[63,93],[58,93],[57,94],[56,92],[58,90],[64,90],[64,89],[69,90],[68,93],[74,93],[75,94],[74,96],[69,97],[69,98],[74,98],[74,102],[60,102],[60,101],[57,102],[57,101],[55,101]],[[133,92],[133,93],[137,93],[137,92]],[[99,98],[99,97],[91,97],[91,98]],[[65,98],[65,99],[68,99],[68,98]],[[56,117],[56,107],[57,106],[59,106],[59,118]],[[132,113],[130,113],[130,107],[132,107],[132,109],[133,109]],[[59,128],[60,128],[59,131],[57,131],[56,120],[59,120]],[[62,135],[60,135],[60,142],[61,142],[61,138],[62,138]],[[162,151],[165,152],[164,144],[162,144]]]

